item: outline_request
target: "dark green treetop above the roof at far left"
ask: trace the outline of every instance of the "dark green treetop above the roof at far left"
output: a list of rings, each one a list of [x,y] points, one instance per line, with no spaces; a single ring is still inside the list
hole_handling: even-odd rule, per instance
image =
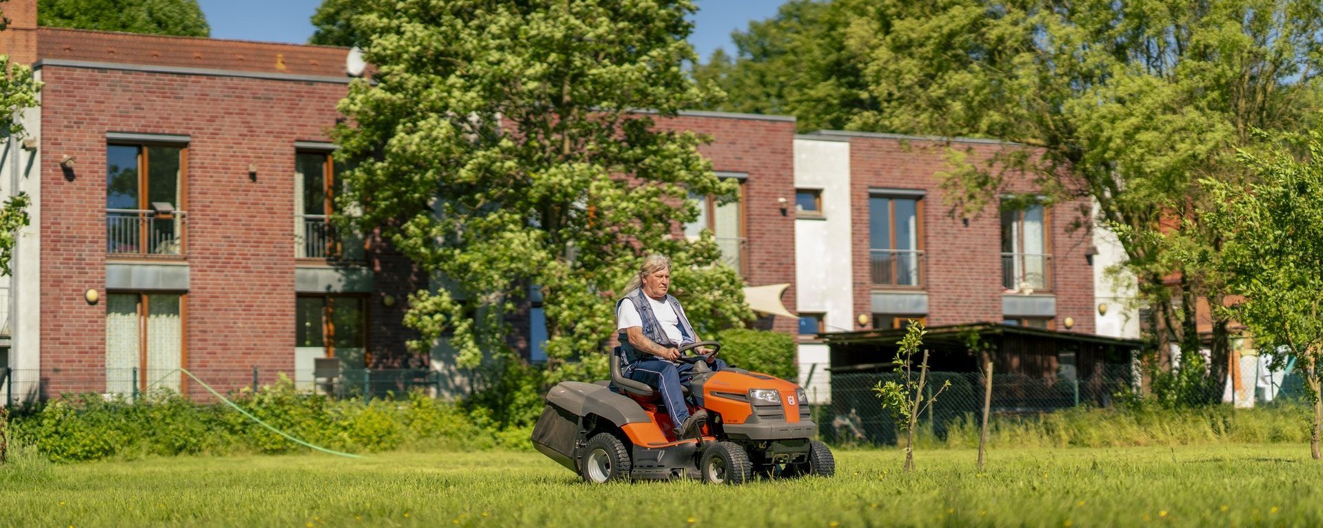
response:
[[[184,37],[212,32],[197,0],[40,0],[37,25]]]

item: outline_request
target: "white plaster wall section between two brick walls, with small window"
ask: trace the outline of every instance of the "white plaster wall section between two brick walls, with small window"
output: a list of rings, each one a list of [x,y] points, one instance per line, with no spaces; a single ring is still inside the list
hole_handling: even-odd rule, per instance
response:
[[[795,187],[822,193],[822,218],[795,220],[795,308],[824,314],[827,331],[853,330],[849,143],[796,137]],[[826,345],[799,345],[799,383],[814,404],[831,403],[828,366]]]

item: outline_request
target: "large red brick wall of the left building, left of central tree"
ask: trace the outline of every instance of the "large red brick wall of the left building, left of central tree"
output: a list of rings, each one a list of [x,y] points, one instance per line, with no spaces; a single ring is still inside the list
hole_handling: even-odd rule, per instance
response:
[[[262,383],[294,371],[294,160],[296,140],[325,140],[345,86],[45,67],[42,91],[42,378],[48,395],[103,391],[106,133],[191,136],[187,260],[188,367],[258,367]],[[75,156],[73,177],[58,162]],[[258,166],[249,180],[249,164]],[[386,271],[400,271],[388,263]],[[404,267],[407,271],[407,267]],[[407,284],[407,281],[404,281]],[[384,281],[369,313],[398,319],[411,288]],[[392,293],[396,309],[378,297]],[[402,348],[398,325],[372,346]],[[57,370],[69,370],[57,372]],[[74,371],[79,374],[74,378]],[[218,375],[220,376],[220,375]],[[251,372],[218,380],[245,385]]]

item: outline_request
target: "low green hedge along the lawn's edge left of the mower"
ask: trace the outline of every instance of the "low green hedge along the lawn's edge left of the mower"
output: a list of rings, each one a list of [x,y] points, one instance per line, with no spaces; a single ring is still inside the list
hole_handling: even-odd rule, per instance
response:
[[[257,393],[232,395],[232,400],[277,429],[339,451],[529,447],[528,428],[503,429],[490,412],[466,412],[417,392],[370,403],[333,400],[300,393],[282,378]],[[171,392],[138,401],[66,396],[16,412],[9,430],[17,444],[56,462],[307,449],[224,403],[201,405]]]

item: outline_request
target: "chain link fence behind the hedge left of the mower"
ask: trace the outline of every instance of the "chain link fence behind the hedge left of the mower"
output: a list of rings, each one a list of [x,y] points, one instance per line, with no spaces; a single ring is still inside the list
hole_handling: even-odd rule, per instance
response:
[[[442,374],[427,368],[343,370],[329,376],[310,372],[287,374],[261,367],[194,367],[193,376],[224,395],[262,391],[282,378],[308,393],[335,397],[388,397],[422,389],[429,396],[442,391]],[[0,404],[45,400],[66,393],[97,393],[131,401],[171,391],[197,403],[218,403],[206,387],[179,368],[50,368],[12,370],[0,367]]]

